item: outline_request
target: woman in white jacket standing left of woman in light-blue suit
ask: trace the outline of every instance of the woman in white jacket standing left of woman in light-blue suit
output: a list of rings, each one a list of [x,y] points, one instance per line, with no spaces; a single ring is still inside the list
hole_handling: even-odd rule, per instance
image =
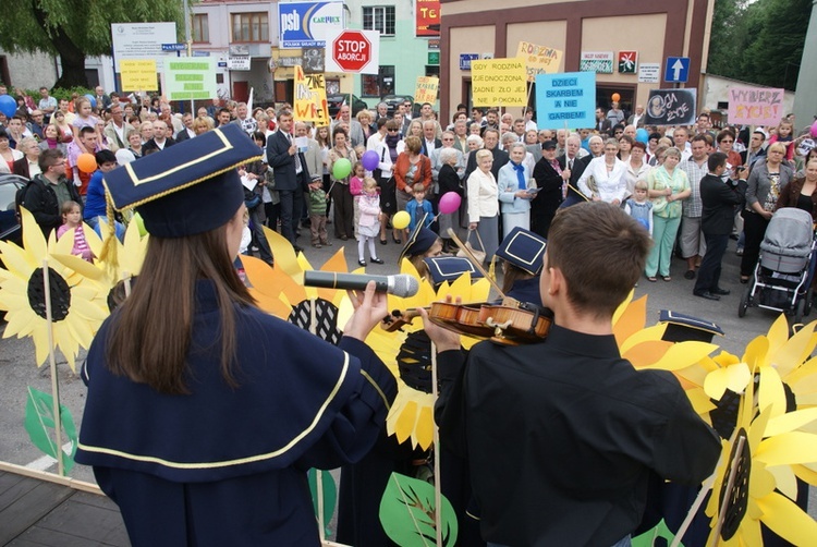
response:
[[[499,248],[499,186],[491,173],[493,154],[476,151],[477,169],[468,175],[468,230],[476,230],[485,245],[485,262],[490,263]],[[479,247],[479,242],[471,243]]]

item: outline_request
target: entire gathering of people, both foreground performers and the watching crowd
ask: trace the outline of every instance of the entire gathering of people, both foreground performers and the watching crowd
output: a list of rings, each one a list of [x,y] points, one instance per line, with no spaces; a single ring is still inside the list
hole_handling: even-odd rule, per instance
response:
[[[504,282],[552,311],[547,339],[466,353],[418,309],[438,352],[437,455],[455,469],[443,477],[462,479],[461,497],[449,497],[458,514],[480,518],[461,524],[476,528],[463,543],[618,547],[642,521],[650,475],[695,487],[721,445],[671,373],[621,357],[615,309],[641,277],[671,280],[676,245],[695,294],[717,299],[730,234],[745,233],[748,267],[776,208],[814,215],[817,203],[817,153],[794,151],[792,120],[772,135],[715,133],[707,114],[694,127],[646,129],[637,109],[626,117],[617,105],[570,133],[538,129],[529,110],[461,106],[444,124],[431,105],[410,119],[403,104],[354,119],[343,105],[313,127],[288,105],[193,117],[114,99],[78,97],[73,112],[59,101],[41,135],[15,116],[0,132],[0,166],[27,169],[25,207],[46,235],[73,230],[76,254],[90,258],[80,219],[115,222],[113,199],[117,215],[138,207],[151,234],[139,281],[88,352],[76,458],[120,506],[134,545],[318,545],[305,470],[341,465],[338,539],[386,544],[371,538],[382,535],[377,477],[398,460],[385,435],[397,382],[366,345],[386,297],[374,282],[352,291],[337,347],[263,313],[233,260],[255,245],[273,263],[264,224],[295,248],[306,226],[315,247],[354,238],[361,266],[366,253],[382,264],[381,245],[404,245],[418,271],[451,247],[449,230],[475,233],[486,263],[521,258],[520,234],[538,240],[517,263],[521,283],[511,270]],[[366,169],[369,153],[378,161]],[[87,154],[96,170],[82,166]],[[156,185],[115,169],[137,158],[136,179]],[[450,192],[462,205],[440,214]]]

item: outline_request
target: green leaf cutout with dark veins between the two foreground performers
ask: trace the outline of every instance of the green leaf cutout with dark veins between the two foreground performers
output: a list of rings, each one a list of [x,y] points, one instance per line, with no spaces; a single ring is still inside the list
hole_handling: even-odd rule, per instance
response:
[[[456,543],[456,514],[442,497],[442,545]],[[392,473],[380,500],[380,524],[386,535],[401,547],[437,545],[434,486]]]

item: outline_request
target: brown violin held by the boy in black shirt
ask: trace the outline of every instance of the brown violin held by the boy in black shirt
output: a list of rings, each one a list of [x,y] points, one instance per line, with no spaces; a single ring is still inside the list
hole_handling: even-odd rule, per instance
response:
[[[439,327],[503,345],[539,342],[547,337],[553,323],[550,309],[513,299],[504,299],[501,304],[434,302],[425,309],[429,320]],[[380,326],[393,332],[410,325],[417,315],[413,309],[395,309]]]

